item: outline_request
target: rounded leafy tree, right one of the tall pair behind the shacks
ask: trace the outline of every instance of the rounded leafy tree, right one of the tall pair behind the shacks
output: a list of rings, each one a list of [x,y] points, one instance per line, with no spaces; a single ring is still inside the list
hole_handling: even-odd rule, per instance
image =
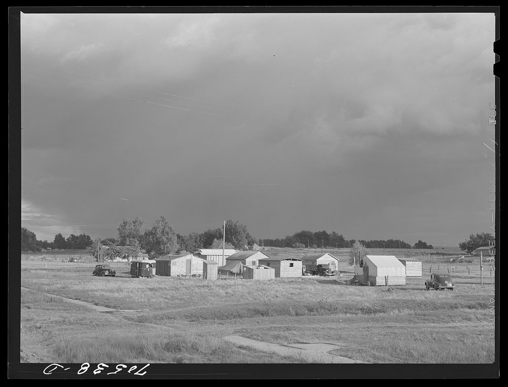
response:
[[[153,226],[145,231],[145,248],[152,257],[160,257],[178,250],[178,240],[173,225],[165,217],[155,221]]]

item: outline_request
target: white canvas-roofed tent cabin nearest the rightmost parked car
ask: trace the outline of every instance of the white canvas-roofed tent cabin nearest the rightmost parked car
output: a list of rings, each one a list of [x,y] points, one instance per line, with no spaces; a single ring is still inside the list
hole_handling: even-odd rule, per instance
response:
[[[406,267],[393,255],[367,255],[355,266],[355,276],[363,285],[405,285]]]

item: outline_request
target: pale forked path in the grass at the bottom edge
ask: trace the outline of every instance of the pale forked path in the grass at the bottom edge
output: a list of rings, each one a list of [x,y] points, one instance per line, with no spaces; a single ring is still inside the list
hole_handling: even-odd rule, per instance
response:
[[[316,363],[366,363],[359,360],[353,360],[328,354],[327,352],[329,350],[340,348],[340,345],[336,344],[311,343],[281,345],[247,339],[241,336],[226,336],[224,339],[236,345],[250,346],[259,350],[274,352],[283,356],[302,356],[311,361],[315,361]]]

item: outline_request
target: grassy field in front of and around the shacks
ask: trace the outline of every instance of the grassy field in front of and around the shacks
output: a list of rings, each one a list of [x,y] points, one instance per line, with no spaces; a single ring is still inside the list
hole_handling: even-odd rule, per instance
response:
[[[283,252],[281,252],[283,254]],[[333,342],[332,354],[371,363],[492,363],[489,289],[478,265],[453,265],[456,289],[426,291],[431,270],[405,286],[350,285],[340,277],[267,281],[94,277],[93,264],[21,262],[22,362],[306,363],[235,346],[239,335],[295,344]],[[439,270],[437,266],[439,265]],[[47,294],[133,311],[101,313]],[[148,310],[147,310],[148,309]],[[443,349],[445,348],[445,349]]]

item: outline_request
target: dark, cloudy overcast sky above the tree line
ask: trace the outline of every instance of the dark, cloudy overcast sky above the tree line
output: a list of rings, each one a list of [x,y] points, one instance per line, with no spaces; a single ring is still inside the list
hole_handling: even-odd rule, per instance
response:
[[[22,14],[22,227],[489,232],[494,14]]]

